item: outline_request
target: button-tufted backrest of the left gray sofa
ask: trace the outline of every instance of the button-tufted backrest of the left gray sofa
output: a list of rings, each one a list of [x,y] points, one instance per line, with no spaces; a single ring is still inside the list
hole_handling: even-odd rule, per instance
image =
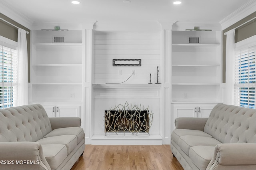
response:
[[[0,109],[0,142],[35,142],[52,131],[39,104]]]

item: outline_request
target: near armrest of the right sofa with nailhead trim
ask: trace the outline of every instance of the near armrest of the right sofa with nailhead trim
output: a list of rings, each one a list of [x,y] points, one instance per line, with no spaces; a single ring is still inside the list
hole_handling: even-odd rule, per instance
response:
[[[218,165],[255,165],[256,168],[256,143],[223,143],[216,145],[213,158],[206,169],[213,170]]]

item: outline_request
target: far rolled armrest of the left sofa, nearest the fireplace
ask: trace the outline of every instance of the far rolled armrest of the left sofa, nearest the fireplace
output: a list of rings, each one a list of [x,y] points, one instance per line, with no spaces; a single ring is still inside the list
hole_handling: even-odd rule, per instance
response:
[[[65,127],[81,127],[80,117],[50,117],[52,130]]]

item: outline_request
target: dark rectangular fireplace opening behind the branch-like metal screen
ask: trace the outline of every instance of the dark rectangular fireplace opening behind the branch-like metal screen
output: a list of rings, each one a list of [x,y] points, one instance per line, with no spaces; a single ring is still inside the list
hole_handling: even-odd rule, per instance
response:
[[[105,133],[108,132],[146,132],[149,134],[149,111],[105,111]]]

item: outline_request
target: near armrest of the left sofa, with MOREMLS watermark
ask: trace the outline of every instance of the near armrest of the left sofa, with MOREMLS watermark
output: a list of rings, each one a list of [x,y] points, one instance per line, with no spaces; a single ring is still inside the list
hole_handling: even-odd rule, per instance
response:
[[[39,142],[0,142],[1,170],[50,170]]]

